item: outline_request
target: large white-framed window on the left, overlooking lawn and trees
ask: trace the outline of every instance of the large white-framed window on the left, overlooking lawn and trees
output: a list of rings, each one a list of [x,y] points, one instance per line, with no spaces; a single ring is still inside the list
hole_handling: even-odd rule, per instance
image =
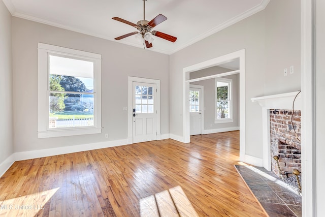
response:
[[[101,55],[39,43],[39,138],[102,132]]]

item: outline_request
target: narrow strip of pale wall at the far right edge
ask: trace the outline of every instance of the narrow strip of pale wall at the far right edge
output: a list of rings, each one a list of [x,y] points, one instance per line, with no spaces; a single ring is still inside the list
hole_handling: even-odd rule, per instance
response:
[[[316,213],[317,216],[324,215],[324,204],[325,204],[325,1],[316,0],[316,20],[315,20],[315,95],[316,95],[316,113],[315,113],[315,130],[316,130],[316,140],[315,140],[315,154],[316,154]]]

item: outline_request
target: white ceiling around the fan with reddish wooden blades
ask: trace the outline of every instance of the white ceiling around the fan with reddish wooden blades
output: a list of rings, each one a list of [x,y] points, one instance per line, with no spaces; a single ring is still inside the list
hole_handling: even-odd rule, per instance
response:
[[[112,41],[136,32],[119,17],[137,23],[143,19],[143,0],[3,0],[13,16]],[[172,54],[219,30],[265,9],[270,0],[147,0],[146,20],[158,14],[168,19],[154,30],[177,37],[175,43],[155,37],[150,50]],[[116,41],[143,47],[135,36]]]

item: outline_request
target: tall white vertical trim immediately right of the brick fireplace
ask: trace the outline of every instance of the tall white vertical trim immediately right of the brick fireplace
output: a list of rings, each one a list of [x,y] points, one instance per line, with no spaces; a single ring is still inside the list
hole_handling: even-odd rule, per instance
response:
[[[315,1],[301,1],[301,171],[302,216],[316,216]],[[320,209],[318,207],[318,209]]]

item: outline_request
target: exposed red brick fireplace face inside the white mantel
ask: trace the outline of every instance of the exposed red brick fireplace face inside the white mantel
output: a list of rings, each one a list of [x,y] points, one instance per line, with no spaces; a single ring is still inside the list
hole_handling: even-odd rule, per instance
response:
[[[291,173],[301,171],[301,142],[297,139],[291,124],[292,110],[270,109],[271,168],[280,176],[273,156],[279,157],[280,169]],[[293,123],[297,136],[301,138],[301,112],[295,110]],[[288,174],[289,176],[292,174]]]

